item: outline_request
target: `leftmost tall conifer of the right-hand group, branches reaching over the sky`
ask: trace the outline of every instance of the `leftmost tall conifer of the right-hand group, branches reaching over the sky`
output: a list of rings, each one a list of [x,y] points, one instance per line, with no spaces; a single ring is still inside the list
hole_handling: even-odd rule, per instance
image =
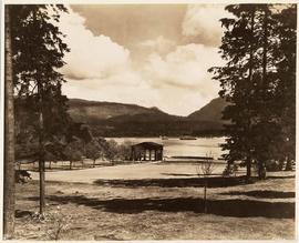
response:
[[[220,53],[225,67],[214,67],[214,79],[220,81],[219,95],[229,102],[224,110],[223,119],[229,120],[225,125],[227,135],[224,150],[229,164],[243,160],[247,166],[247,178],[251,175],[252,141],[250,141],[252,109],[255,102],[255,73],[257,65],[256,6],[234,4],[226,10],[235,18],[221,19],[225,34]],[[249,92],[248,92],[249,91]]]

